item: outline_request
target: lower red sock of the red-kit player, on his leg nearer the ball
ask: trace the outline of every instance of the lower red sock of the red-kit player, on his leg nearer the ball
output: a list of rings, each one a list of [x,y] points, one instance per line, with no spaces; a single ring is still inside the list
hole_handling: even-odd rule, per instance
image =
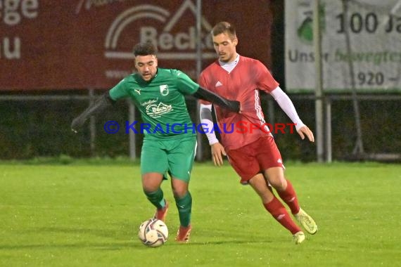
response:
[[[284,207],[284,205],[281,204],[280,200],[278,200],[276,197],[274,197],[271,202],[264,203],[263,206],[265,206],[267,211],[272,214],[276,221],[281,223],[281,225],[288,229],[292,234],[295,234],[301,230],[291,219],[286,207]]]

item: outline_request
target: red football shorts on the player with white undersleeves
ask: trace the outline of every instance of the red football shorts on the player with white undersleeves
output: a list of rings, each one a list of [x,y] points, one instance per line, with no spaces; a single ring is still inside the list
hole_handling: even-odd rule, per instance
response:
[[[283,160],[272,136],[227,152],[229,162],[241,176],[241,183],[247,184],[250,178],[272,167],[284,168]]]

